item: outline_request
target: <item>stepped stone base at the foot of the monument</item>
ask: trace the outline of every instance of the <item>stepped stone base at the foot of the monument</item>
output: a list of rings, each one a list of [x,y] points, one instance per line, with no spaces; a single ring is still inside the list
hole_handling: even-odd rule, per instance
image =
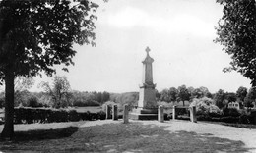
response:
[[[143,109],[137,108],[129,114],[132,120],[158,120],[158,108],[156,109]]]

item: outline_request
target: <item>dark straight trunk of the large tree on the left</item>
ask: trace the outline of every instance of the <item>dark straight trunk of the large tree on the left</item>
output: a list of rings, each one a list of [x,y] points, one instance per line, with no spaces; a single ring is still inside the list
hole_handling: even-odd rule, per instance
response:
[[[14,72],[5,73],[5,125],[1,138],[14,136]]]

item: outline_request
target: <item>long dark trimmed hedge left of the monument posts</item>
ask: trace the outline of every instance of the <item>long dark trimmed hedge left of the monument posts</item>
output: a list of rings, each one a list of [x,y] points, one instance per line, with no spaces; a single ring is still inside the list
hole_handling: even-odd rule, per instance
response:
[[[104,120],[105,112],[77,112],[76,110],[15,108],[15,124],[75,122],[81,120]]]

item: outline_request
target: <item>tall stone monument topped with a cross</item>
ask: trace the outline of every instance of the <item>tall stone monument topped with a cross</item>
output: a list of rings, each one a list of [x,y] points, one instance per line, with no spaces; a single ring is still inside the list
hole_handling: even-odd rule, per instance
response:
[[[156,84],[153,83],[152,63],[154,59],[150,57],[150,48],[146,48],[146,58],[143,63],[142,84],[140,87],[138,107],[130,113],[130,118],[135,120],[158,119],[158,105],[156,101]]]

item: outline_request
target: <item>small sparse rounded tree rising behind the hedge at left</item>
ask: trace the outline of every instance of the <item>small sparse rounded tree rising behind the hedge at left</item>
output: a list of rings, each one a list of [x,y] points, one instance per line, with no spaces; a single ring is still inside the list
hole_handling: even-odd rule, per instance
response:
[[[53,84],[49,82],[41,82],[41,87],[53,100],[53,107],[60,108],[67,104],[70,97],[70,84],[67,77],[53,77]]]

